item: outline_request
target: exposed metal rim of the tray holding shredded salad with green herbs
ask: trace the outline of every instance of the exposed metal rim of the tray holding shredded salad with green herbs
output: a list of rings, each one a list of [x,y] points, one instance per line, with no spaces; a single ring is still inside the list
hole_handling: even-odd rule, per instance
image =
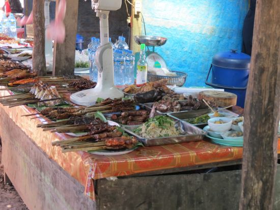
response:
[[[183,143],[183,142],[190,142],[190,141],[199,141],[202,140],[203,137],[207,134],[207,132],[203,131],[202,129],[192,126],[191,124],[183,121],[177,121],[175,127],[181,127],[182,131],[185,134],[179,136],[172,136],[172,137],[159,137],[159,138],[143,138],[136,133],[133,132],[136,128],[141,125],[137,126],[124,126],[122,127],[124,131],[127,133],[135,136],[140,140],[145,146],[157,146],[157,145],[164,145],[164,144],[175,144],[175,143]]]

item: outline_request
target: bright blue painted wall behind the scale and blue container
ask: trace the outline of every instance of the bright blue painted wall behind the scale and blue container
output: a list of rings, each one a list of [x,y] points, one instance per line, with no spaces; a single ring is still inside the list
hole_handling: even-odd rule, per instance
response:
[[[142,4],[147,35],[168,38],[156,52],[169,69],[188,74],[185,86],[205,86],[217,52],[241,50],[248,0],[143,0]]]

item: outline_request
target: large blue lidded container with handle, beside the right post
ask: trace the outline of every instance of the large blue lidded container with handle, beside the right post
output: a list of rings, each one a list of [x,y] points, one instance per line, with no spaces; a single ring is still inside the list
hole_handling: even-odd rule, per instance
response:
[[[214,88],[223,88],[237,95],[237,105],[244,107],[249,78],[250,56],[236,50],[217,53],[212,59],[205,83]],[[211,82],[208,82],[212,70]]]

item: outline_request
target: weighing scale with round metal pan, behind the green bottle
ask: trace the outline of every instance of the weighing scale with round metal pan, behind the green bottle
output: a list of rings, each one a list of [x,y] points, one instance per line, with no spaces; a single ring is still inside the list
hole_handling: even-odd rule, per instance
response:
[[[167,69],[163,57],[161,57],[157,52],[155,52],[155,47],[164,45],[167,41],[166,38],[154,36],[135,36],[134,41],[139,45],[145,44],[147,46],[146,61],[148,63],[148,67],[159,67]],[[149,47],[153,48],[152,51],[149,50]],[[139,61],[139,54],[139,52],[135,53],[134,72],[136,72],[137,62]]]

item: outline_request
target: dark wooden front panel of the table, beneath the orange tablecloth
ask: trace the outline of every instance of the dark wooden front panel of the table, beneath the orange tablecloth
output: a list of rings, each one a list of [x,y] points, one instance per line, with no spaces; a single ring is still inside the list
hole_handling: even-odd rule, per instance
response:
[[[274,209],[280,209],[278,166]],[[97,209],[197,210],[238,209],[241,170],[100,179],[96,184]]]

